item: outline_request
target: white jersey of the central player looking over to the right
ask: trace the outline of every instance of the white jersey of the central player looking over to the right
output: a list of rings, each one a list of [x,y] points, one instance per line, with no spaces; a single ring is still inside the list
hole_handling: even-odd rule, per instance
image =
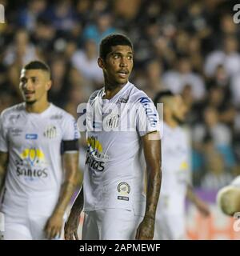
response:
[[[158,113],[150,98],[130,82],[110,100],[102,99],[104,94],[102,88],[91,95],[89,103],[96,118],[87,114],[87,123],[117,131],[86,129],[84,209],[122,208],[143,214],[146,163],[140,137],[159,130]]]

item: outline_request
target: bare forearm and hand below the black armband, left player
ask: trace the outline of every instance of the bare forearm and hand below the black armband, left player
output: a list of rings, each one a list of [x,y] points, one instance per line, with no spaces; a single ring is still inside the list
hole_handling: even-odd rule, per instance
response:
[[[66,170],[66,177],[62,184],[54,213],[46,223],[45,230],[47,238],[54,238],[58,234],[61,234],[63,214],[70,202],[70,198],[74,194],[74,190],[78,182],[78,153],[63,154],[63,163],[64,169]]]

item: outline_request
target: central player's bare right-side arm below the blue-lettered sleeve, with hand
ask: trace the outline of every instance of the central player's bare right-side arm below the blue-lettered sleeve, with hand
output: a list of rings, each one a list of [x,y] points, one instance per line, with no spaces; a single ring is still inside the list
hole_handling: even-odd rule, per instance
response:
[[[161,188],[161,142],[153,139],[158,132],[146,134],[142,137],[143,150],[146,160],[147,187],[146,212],[143,221],[138,226],[136,239],[153,239],[155,213]]]

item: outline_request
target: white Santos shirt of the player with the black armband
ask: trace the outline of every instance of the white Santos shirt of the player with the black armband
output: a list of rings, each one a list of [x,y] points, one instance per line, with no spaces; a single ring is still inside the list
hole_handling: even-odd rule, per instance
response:
[[[51,214],[62,185],[61,142],[79,138],[74,118],[50,104],[41,114],[26,112],[25,103],[4,110],[0,151],[9,153],[6,214]]]

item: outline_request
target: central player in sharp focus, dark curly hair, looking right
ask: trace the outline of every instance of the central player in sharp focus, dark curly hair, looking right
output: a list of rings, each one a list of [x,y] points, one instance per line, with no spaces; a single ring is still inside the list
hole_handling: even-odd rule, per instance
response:
[[[161,186],[158,112],[150,98],[128,81],[133,68],[133,46],[126,36],[111,34],[102,40],[98,66],[103,70],[105,86],[90,96],[89,105],[103,113],[106,123],[98,118],[90,118],[89,123],[96,128],[103,124],[117,129],[121,124],[122,128],[86,128],[84,193],[82,189],[74,202],[65,237],[78,238],[84,194],[82,239],[152,239]],[[114,113],[114,106],[121,113]],[[128,130],[127,111],[134,110],[134,106],[135,122],[131,116]]]

